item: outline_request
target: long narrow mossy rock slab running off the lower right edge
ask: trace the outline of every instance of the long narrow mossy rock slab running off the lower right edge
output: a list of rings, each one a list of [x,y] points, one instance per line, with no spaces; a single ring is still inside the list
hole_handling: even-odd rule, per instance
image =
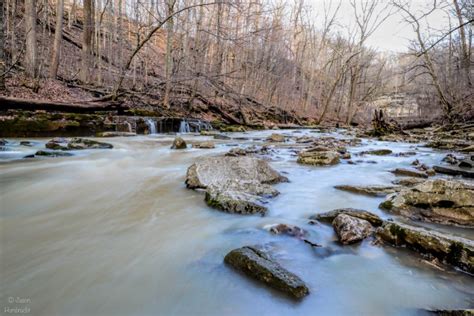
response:
[[[394,222],[385,222],[377,229],[376,234],[391,245],[410,248],[474,273],[472,240]]]

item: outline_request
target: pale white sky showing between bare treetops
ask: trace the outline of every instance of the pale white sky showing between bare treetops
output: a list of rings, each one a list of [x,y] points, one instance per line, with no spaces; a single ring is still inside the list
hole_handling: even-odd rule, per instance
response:
[[[316,22],[318,24],[318,21],[322,20],[320,17],[323,15],[322,12],[324,12],[325,4],[326,7],[330,4],[332,8],[335,9],[339,1],[342,1],[338,13],[339,23],[344,25],[354,24],[354,10],[349,0],[305,0],[305,4],[312,7],[314,14],[316,14]],[[360,3],[361,1],[369,0],[356,1]],[[420,15],[421,12],[429,11],[427,8],[430,8],[433,4],[433,0],[412,0],[408,2],[410,3],[410,11],[416,12],[418,15]],[[323,22],[320,23],[322,26]],[[424,27],[429,25],[433,29],[446,29],[449,25],[448,23],[446,13],[442,10],[436,10],[425,19]],[[412,27],[403,21],[403,14],[401,12],[396,12],[380,25],[368,38],[366,44],[381,52],[403,52],[407,50],[410,40],[413,39],[415,39],[415,33]]]

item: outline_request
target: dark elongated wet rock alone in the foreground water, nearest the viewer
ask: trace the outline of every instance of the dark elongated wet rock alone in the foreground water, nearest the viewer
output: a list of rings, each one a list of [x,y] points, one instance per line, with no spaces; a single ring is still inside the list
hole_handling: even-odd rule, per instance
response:
[[[251,246],[234,249],[225,256],[224,262],[291,297],[301,299],[309,294],[308,287],[297,275],[272,260],[263,250]]]

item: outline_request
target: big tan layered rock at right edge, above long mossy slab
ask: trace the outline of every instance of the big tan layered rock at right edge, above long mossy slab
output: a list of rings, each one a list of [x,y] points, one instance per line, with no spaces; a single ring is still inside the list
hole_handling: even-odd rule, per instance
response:
[[[474,185],[427,180],[389,195],[380,207],[414,220],[474,227]]]

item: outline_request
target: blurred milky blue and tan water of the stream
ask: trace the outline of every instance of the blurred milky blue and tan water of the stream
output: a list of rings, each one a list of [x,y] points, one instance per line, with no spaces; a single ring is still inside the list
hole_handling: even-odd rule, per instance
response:
[[[279,150],[271,164],[291,182],[276,186],[281,194],[268,203],[265,217],[216,211],[202,192],[185,188],[186,169],[199,157],[258,144],[270,133],[234,134],[250,139],[220,142],[212,150],[170,150],[174,136],[153,135],[107,139],[114,149],[65,158],[15,160],[46,140],[0,152],[2,312],[27,306],[30,314],[48,316],[405,315],[473,306],[474,281],[466,274],[435,269],[412,252],[370,240],[342,247],[331,226],[307,224],[310,215],[338,207],[389,217],[377,208],[382,198],[333,186],[389,184],[396,177],[387,170],[415,158],[433,164],[441,152],[366,140],[350,151],[388,147],[417,155],[309,167],[297,165],[291,149]],[[262,229],[274,223],[297,224],[324,247]],[[439,229],[474,238],[469,230]],[[223,264],[228,251],[252,244],[266,244],[311,294],[295,302]]]

